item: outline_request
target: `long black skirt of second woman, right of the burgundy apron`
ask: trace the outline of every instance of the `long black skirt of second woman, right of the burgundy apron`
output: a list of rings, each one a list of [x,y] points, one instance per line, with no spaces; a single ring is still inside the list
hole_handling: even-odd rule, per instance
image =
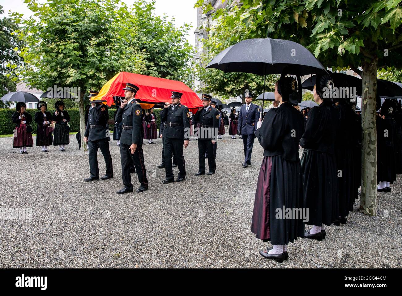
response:
[[[331,225],[339,217],[338,180],[335,156],[304,149],[301,156],[304,208],[309,209],[308,225]]]

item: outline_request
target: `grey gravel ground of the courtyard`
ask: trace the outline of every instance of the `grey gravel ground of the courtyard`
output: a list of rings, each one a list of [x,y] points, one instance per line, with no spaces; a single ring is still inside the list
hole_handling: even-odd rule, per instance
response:
[[[115,141],[115,178],[90,183],[88,152],[78,150],[74,135],[70,141],[67,152],[32,147],[20,155],[12,138],[0,138],[0,207],[32,209],[31,221],[0,221],[0,267],[401,267],[401,175],[391,194],[377,195],[377,216],[359,213],[357,200],[346,226],[328,227],[322,242],[298,239],[289,260],[277,263],[258,254],[267,244],[250,231],[263,155],[258,141],[244,169],[242,140],[224,135],[216,174],[196,177],[193,140],[185,149],[186,181],[170,184],[161,184],[164,170],[156,168],[161,140],[147,143],[149,190],[125,195],[116,194],[123,184]],[[102,176],[100,152],[98,162]]]

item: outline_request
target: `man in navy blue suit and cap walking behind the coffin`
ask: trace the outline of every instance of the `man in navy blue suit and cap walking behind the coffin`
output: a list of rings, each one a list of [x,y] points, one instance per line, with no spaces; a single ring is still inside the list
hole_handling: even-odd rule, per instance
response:
[[[252,93],[250,91],[244,94],[246,103],[240,107],[239,119],[237,122],[237,133],[242,136],[244,147],[243,168],[251,164],[251,152],[254,144],[254,135],[257,129],[257,123],[260,119],[260,109],[257,105],[251,103]]]

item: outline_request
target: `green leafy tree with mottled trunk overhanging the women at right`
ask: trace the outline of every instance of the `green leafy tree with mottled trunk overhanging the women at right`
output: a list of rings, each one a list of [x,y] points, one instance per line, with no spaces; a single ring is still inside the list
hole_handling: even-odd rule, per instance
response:
[[[236,5],[234,6],[234,4]],[[362,180],[360,210],[375,215],[377,69],[402,68],[400,0],[243,0],[229,1],[224,24],[247,38],[289,39],[307,47],[333,70],[351,68],[362,76]],[[211,7],[203,4],[204,11]],[[289,52],[290,57],[290,52]],[[359,66],[363,69],[360,71]]]

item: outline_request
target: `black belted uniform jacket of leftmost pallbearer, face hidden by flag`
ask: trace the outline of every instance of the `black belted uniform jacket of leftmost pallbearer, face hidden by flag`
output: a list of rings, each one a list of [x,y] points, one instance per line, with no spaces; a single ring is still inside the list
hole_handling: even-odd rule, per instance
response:
[[[108,138],[107,122],[109,120],[109,111],[106,105],[98,105],[91,108],[88,112],[88,122],[84,137],[89,141],[98,141]],[[90,128],[91,125],[101,125],[96,128]]]

